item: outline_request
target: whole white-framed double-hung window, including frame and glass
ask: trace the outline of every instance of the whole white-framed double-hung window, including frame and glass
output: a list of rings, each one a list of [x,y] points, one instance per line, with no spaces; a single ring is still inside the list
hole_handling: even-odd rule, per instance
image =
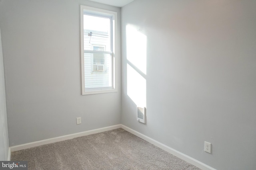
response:
[[[117,92],[117,13],[81,5],[82,94]]]

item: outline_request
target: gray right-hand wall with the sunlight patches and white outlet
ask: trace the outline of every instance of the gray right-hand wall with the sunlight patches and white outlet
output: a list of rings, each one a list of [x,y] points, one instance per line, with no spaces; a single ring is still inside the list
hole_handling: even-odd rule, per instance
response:
[[[124,6],[122,124],[218,170],[255,169],[255,9],[255,0]],[[133,42],[146,37],[146,74],[127,55],[143,56],[127,47],[127,25],[137,32]],[[129,72],[146,79],[146,125],[136,121],[136,97],[143,96],[129,95],[137,83]],[[212,154],[204,152],[204,141],[212,143]]]

